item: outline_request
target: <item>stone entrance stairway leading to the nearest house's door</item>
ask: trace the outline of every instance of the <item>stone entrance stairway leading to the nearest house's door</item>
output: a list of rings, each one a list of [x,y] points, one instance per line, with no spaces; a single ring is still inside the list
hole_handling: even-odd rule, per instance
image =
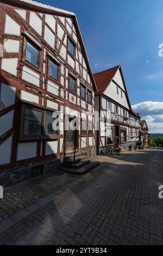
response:
[[[75,157],[74,157],[75,154]],[[83,174],[97,167],[100,163],[91,161],[86,150],[73,150],[71,153],[64,153],[62,164],[57,168],[64,172]]]

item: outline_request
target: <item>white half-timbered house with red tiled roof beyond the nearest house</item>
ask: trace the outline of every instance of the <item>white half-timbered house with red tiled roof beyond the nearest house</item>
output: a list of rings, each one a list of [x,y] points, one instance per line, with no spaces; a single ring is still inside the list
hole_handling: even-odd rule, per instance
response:
[[[93,75],[97,85],[95,96],[95,109],[101,113],[97,131],[97,152],[101,152],[108,145],[121,144],[123,149],[128,149],[139,140],[140,116],[130,106],[126,84],[121,66],[98,72]],[[110,119],[110,135],[104,129],[109,125],[106,118]]]

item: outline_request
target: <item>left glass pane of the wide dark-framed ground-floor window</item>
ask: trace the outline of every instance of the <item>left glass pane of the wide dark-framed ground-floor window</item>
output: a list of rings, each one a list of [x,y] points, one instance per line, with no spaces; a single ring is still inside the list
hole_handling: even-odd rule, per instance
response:
[[[41,135],[42,112],[26,108],[23,135]]]

